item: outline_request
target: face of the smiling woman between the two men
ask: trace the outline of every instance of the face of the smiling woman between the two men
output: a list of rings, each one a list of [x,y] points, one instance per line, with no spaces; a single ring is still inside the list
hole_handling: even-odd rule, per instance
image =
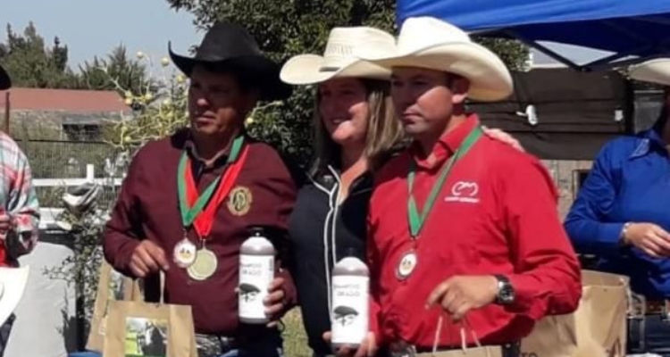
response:
[[[370,105],[359,79],[330,79],[319,85],[319,114],[339,145],[364,145]]]

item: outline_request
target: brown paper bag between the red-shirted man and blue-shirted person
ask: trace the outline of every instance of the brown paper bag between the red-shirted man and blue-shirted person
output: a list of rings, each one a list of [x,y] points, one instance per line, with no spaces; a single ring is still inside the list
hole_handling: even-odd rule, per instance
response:
[[[582,270],[577,311],[548,316],[523,339],[523,357],[624,357],[629,279]]]

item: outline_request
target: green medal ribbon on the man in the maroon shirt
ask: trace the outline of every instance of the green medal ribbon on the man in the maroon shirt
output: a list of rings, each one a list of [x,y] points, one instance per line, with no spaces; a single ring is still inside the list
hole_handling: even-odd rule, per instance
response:
[[[242,148],[242,144],[244,144],[244,136],[236,137],[232,142],[230,155],[228,156],[226,165],[230,165],[230,163],[238,160],[239,151]],[[188,184],[186,176],[188,174],[188,170],[190,170],[188,167],[188,154],[184,152],[181,154],[180,164],[177,170],[177,189],[179,191],[180,199],[181,222],[183,223],[184,228],[190,227],[191,224],[193,224],[193,221],[196,220],[197,215],[203,211],[205,205],[212,197],[214,190],[219,186],[219,182],[221,181],[221,176],[214,179],[214,181],[205,189],[205,192],[197,197],[197,201],[193,204],[193,207],[188,207]],[[196,188],[194,187],[194,189]]]

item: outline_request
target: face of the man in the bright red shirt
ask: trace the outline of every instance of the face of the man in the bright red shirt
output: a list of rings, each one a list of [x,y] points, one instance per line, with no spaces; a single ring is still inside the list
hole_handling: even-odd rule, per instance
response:
[[[459,83],[460,82],[460,83]],[[465,100],[465,79],[450,79],[443,71],[397,67],[391,77],[391,97],[406,133],[437,132]]]

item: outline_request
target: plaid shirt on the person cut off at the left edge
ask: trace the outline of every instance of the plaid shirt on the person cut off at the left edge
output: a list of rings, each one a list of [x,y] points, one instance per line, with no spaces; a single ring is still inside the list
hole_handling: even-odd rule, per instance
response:
[[[12,227],[21,237],[19,255],[32,251],[38,242],[39,203],[28,158],[19,145],[0,132],[0,216],[9,214]],[[0,243],[4,243],[0,233]],[[6,265],[4,245],[0,244],[0,266]]]

